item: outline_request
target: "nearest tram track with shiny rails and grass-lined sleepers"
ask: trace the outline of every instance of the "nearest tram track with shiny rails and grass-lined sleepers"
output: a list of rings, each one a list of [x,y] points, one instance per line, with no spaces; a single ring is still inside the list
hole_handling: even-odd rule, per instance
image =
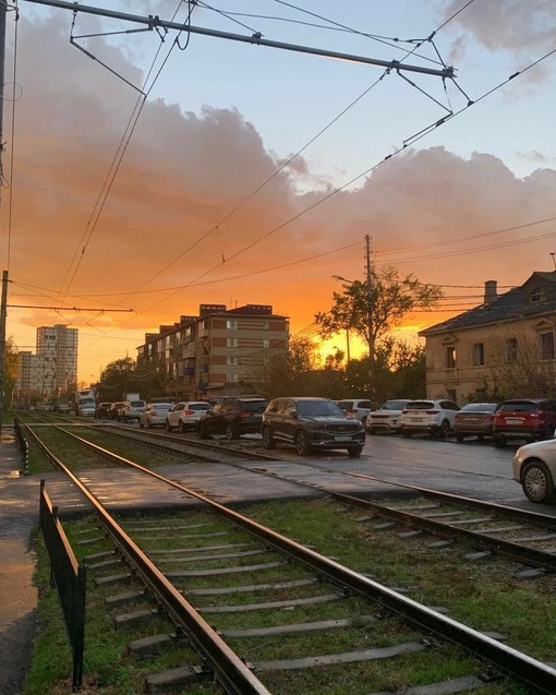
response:
[[[457,663],[450,685],[436,683],[437,693],[469,692],[485,686],[489,679],[496,680],[495,688],[519,683],[533,693],[556,692],[556,671],[492,635],[458,623],[174,480],[74,434],[65,435],[101,460],[111,459],[112,466],[129,466],[130,480],[148,475],[148,483],[143,484],[156,486],[153,496],[167,495],[170,488],[177,496],[186,495],[181,502],[185,515],[173,512],[166,522],[153,515],[141,520],[123,518],[118,524],[95,495],[96,487],[99,496],[106,498],[106,486],[89,479],[84,488],[50,454],[97,511],[117,549],[116,553],[107,549],[104,536],[93,527],[90,537],[86,528],[80,529],[87,561],[97,573],[96,585],[108,591],[107,608],[114,624],[129,628],[136,622],[153,623],[153,633],[131,639],[130,650],[140,656],[169,649],[174,661],[176,649],[184,650],[178,658],[179,668],[148,676],[149,692],[185,688],[188,683],[207,678],[216,678],[230,693],[326,692],[324,685],[310,688],[325,673],[328,679],[339,678],[343,692],[368,695],[384,691],[385,685],[391,692],[391,679],[379,666],[385,659],[392,661],[388,672],[410,673],[424,662],[443,659],[452,669]],[[84,475],[88,477],[87,471]],[[110,504],[116,506],[118,495],[125,492],[112,489]],[[299,613],[303,620],[293,620]],[[214,628],[208,627],[209,622]],[[201,655],[195,662],[191,661],[192,645]],[[337,648],[325,650],[323,645]]]

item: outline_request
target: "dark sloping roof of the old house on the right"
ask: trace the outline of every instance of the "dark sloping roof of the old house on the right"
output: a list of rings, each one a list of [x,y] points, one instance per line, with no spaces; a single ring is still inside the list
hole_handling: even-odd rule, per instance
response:
[[[535,272],[520,287],[515,287],[487,303],[430,326],[421,331],[419,335],[426,337],[489,323],[541,316],[546,313],[556,313],[556,271]]]

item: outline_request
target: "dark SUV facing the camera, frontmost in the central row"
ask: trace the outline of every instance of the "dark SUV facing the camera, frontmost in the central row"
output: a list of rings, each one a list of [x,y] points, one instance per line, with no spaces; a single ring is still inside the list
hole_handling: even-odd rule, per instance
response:
[[[263,414],[263,443],[293,444],[300,456],[315,448],[347,448],[350,457],[363,451],[365,429],[328,398],[275,398]]]

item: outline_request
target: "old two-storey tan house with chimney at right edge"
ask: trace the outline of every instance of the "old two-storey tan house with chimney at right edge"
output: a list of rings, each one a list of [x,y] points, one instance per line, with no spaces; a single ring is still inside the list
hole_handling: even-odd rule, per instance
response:
[[[482,398],[555,395],[556,271],[533,273],[498,295],[425,328],[426,395],[459,404]]]

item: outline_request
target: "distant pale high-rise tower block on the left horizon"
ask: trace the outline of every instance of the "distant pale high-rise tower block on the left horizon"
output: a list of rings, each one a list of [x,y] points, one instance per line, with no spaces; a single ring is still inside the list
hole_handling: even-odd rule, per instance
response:
[[[20,396],[53,398],[75,387],[77,328],[63,324],[37,328],[37,354],[19,354],[15,392]]]

